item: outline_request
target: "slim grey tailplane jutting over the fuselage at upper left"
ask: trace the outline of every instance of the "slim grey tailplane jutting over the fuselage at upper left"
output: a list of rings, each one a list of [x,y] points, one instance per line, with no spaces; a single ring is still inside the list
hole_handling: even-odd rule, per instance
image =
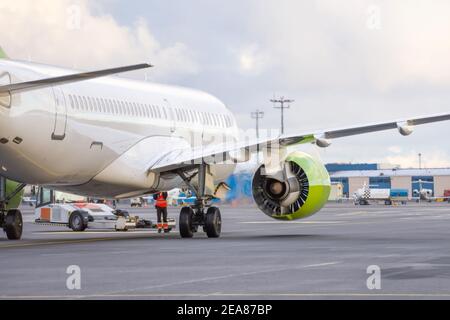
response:
[[[105,70],[98,70],[98,71],[92,71],[92,72],[82,72],[82,73],[76,73],[76,74],[60,76],[60,77],[12,83],[12,84],[0,86],[0,95],[37,90],[37,89],[42,89],[42,88],[46,88],[46,87],[68,84],[68,83],[72,83],[72,82],[85,81],[85,80],[95,79],[95,78],[99,78],[99,77],[110,76],[110,75],[118,74],[118,73],[122,73],[122,72],[139,70],[139,69],[150,68],[150,67],[152,67],[152,65],[143,63],[143,64],[136,64],[136,65],[132,65],[132,66],[113,68],[113,69],[105,69]]]

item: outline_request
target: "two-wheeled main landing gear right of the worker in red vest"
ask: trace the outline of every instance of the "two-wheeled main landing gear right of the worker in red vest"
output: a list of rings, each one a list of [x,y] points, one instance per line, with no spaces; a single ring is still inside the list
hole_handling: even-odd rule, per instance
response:
[[[206,165],[202,164],[198,169],[199,187],[195,188],[183,172],[178,172],[180,177],[197,195],[197,201],[192,207],[184,207],[180,212],[179,228],[182,238],[192,238],[203,227],[208,238],[219,238],[222,231],[222,217],[217,207],[208,207],[211,197],[205,196]],[[205,208],[208,207],[205,213]]]

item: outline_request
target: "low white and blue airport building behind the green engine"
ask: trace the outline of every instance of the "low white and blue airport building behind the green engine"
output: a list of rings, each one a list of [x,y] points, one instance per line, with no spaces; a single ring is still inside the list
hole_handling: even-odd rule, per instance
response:
[[[385,164],[340,164],[326,165],[332,183],[341,183],[344,197],[352,197],[364,185],[380,189],[406,189],[408,196],[422,187],[431,189],[436,197],[444,196],[450,190],[450,168],[442,169],[400,169]]]

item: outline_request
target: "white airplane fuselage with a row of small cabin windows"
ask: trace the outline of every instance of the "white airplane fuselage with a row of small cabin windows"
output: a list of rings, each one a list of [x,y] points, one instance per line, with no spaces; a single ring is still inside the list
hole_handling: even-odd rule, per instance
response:
[[[77,73],[0,60],[0,84]],[[0,174],[99,197],[178,187],[152,172],[176,148],[236,139],[233,114],[209,94],[116,77],[15,94],[0,107]],[[7,141],[7,142],[6,142]],[[218,166],[217,180],[234,169]]]

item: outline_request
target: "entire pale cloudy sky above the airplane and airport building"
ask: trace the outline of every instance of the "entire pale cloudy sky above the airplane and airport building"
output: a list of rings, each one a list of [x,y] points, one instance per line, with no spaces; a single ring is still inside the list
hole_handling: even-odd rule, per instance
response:
[[[274,96],[295,100],[287,133],[450,112],[450,2],[445,0],[2,0],[0,46],[11,58],[83,70],[141,62],[146,81],[197,88],[238,124]],[[450,167],[450,123],[302,150],[325,162]]]

